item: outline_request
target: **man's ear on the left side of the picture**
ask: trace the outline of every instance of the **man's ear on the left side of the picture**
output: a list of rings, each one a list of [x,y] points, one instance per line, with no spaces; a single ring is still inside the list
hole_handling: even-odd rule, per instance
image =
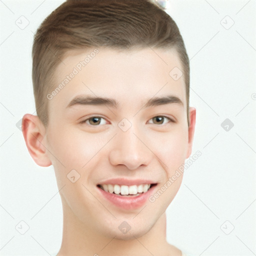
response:
[[[22,133],[28,152],[40,166],[49,166],[51,161],[47,155],[47,148],[43,141],[45,127],[36,115],[25,114],[22,118]]]

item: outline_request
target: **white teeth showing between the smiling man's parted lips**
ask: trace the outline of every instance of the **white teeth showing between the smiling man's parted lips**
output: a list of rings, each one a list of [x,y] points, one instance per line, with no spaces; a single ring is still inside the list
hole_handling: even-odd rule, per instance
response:
[[[108,193],[119,196],[138,196],[147,192],[152,186],[155,185],[156,183],[139,185],[97,184],[97,187]]]

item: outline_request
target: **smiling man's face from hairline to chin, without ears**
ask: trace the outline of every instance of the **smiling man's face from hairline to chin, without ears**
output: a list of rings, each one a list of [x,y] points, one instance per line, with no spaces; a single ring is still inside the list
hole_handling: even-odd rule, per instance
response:
[[[169,74],[181,63],[150,48],[70,51],[63,62],[43,143],[64,215],[104,236],[139,237],[174,198],[182,174],[171,177],[191,152],[184,77]]]

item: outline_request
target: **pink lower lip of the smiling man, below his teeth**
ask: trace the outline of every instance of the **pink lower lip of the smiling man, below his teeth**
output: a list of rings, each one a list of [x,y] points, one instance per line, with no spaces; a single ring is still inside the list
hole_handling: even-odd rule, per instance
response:
[[[97,187],[100,193],[114,205],[123,209],[137,209],[145,204],[148,197],[154,192],[156,185],[150,187],[145,193],[136,196],[122,196],[114,193],[106,192],[105,190]]]

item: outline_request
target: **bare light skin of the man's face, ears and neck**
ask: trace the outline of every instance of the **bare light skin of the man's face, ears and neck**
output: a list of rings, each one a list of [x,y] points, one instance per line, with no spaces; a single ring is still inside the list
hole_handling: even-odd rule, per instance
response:
[[[56,86],[92,51],[68,51],[65,65],[59,64],[55,70]],[[113,205],[96,187],[107,178],[128,177],[152,179],[159,189],[191,154],[196,111],[189,108],[188,127],[184,77],[175,81],[169,75],[175,66],[181,69],[174,50],[99,48],[61,91],[47,99],[47,127],[35,115],[23,116],[23,136],[30,155],[40,166],[53,165],[61,189],[63,235],[58,256],[181,255],[166,241],[165,210],[182,175],[154,202],[147,200],[146,206],[138,209]],[[66,108],[74,96],[83,93],[113,98],[119,106]],[[168,94],[179,97],[183,105],[143,107],[151,97]],[[163,115],[175,122],[153,118]],[[95,125],[88,120],[93,116],[103,118]],[[123,118],[131,123],[125,132],[118,127]],[[80,175],[74,183],[66,176],[72,169]],[[131,226],[126,234],[118,228],[123,221]]]

